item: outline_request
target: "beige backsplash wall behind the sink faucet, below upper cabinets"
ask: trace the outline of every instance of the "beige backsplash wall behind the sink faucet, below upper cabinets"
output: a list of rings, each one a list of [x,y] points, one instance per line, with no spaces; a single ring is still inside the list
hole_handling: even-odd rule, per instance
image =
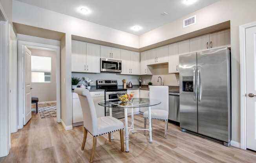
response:
[[[157,82],[159,76],[161,76],[164,85],[179,86],[179,74],[169,74],[168,64],[165,65],[154,65],[151,69],[152,75],[142,75],[142,85],[147,85],[148,82],[152,82],[153,85],[160,85]]]

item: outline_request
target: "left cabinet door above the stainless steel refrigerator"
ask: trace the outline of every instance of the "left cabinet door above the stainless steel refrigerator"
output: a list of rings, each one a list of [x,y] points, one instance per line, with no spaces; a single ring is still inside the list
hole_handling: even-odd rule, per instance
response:
[[[203,51],[210,48],[210,37],[204,35],[190,39],[190,52]]]

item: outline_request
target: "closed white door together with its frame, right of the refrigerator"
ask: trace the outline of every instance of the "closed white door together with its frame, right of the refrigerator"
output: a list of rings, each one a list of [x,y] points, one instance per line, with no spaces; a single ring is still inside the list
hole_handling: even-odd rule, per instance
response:
[[[256,22],[240,26],[241,148],[256,151]]]

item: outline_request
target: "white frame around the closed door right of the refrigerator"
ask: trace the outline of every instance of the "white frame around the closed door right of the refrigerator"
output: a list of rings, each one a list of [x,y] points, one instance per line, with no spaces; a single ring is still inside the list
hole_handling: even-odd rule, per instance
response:
[[[255,27],[256,22],[244,24],[239,26],[239,39],[240,39],[240,148],[246,148],[246,42],[245,30],[247,28]]]

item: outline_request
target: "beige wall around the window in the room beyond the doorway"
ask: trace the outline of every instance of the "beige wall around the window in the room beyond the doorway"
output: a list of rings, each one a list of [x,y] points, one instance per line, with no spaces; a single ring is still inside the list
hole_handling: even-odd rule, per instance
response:
[[[51,82],[50,83],[31,83],[31,96],[38,97],[39,102],[56,101],[56,57],[54,51],[29,49],[33,56],[51,57]]]

